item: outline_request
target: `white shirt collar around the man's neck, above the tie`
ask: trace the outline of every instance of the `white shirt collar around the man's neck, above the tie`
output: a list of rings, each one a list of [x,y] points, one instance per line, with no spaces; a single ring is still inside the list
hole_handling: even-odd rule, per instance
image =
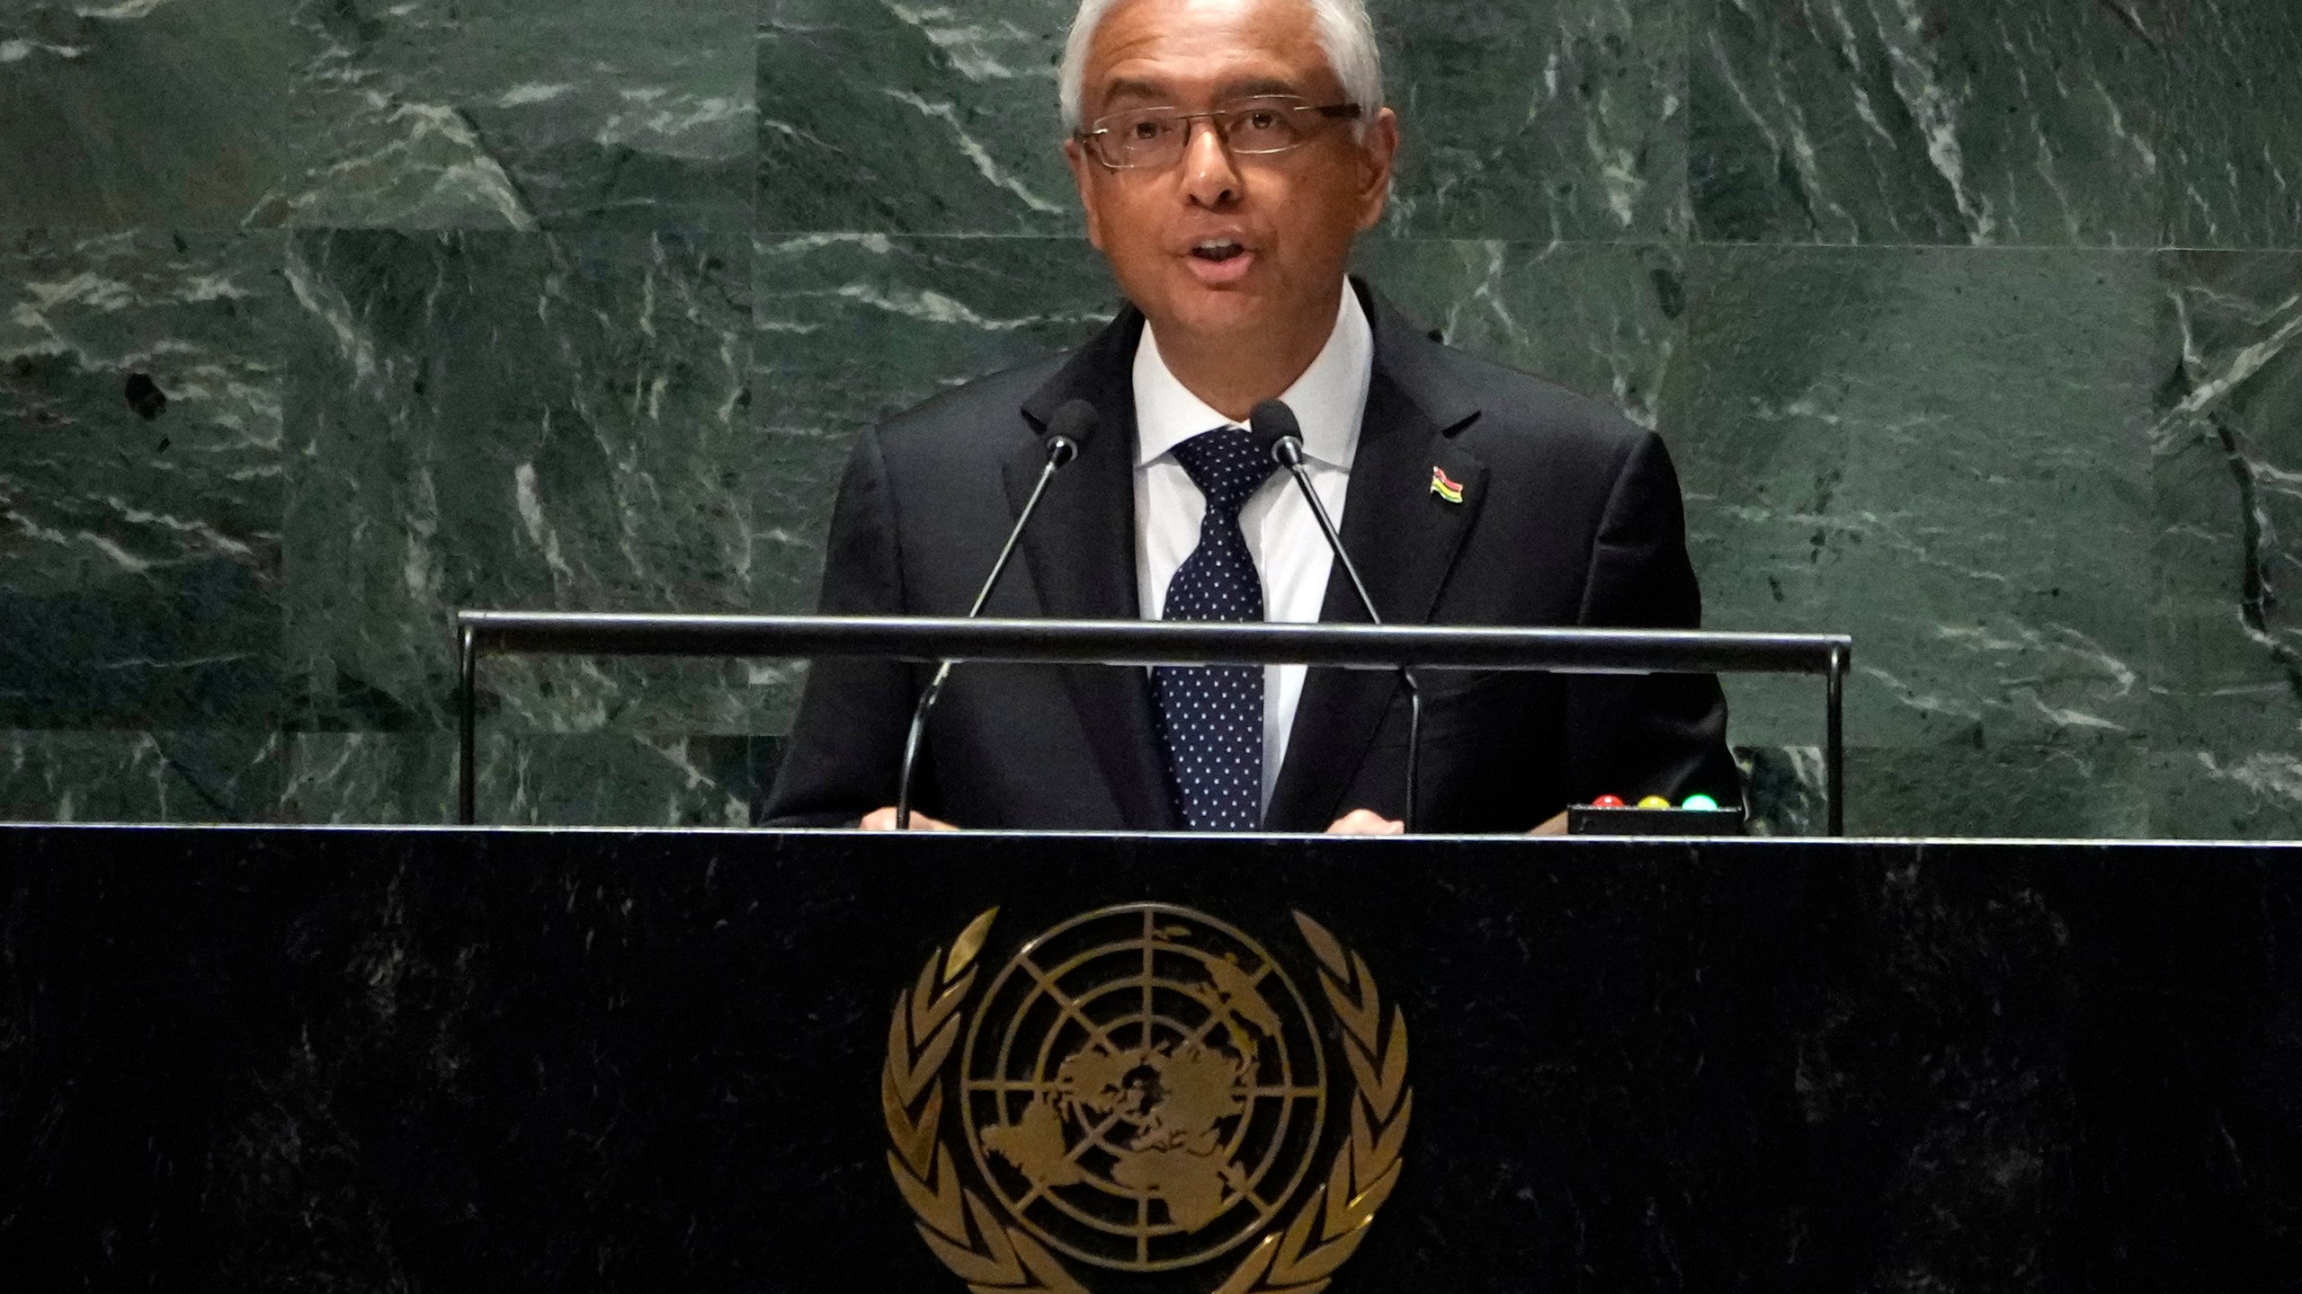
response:
[[[1358,426],[1367,412],[1367,382],[1374,375],[1374,327],[1367,322],[1358,292],[1344,283],[1335,332],[1326,348],[1280,396],[1303,426],[1303,456],[1328,467],[1351,467],[1358,454]],[[1192,435],[1236,426],[1190,394],[1158,352],[1158,338],[1144,322],[1135,348],[1135,465],[1149,465]]]

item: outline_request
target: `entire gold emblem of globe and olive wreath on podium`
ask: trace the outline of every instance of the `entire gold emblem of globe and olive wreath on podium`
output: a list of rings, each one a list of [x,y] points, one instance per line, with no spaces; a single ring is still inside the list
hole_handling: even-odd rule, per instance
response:
[[[889,1027],[886,1163],[928,1248],[976,1294],[1089,1294],[1066,1259],[1206,1266],[1209,1294],[1326,1289],[1397,1186],[1413,1114],[1407,1020],[1386,1029],[1367,962],[1294,914],[1351,1073],[1331,1137],[1312,1011],[1241,930],[1091,912],[1024,944],[969,1020],[997,916],[928,958]]]

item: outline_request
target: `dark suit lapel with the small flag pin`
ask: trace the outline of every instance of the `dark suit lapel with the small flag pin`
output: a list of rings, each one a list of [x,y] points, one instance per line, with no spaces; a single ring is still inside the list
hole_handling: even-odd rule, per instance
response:
[[[1388,624],[1425,624],[1487,493],[1485,460],[1453,440],[1478,410],[1430,371],[1432,341],[1372,292],[1360,297],[1374,322],[1374,378],[1344,490],[1342,548]],[[1434,472],[1446,474],[1450,490],[1459,488],[1462,502],[1434,488]],[[1328,576],[1319,619],[1367,622],[1342,566]],[[1271,829],[1324,831],[1351,808],[1342,794],[1397,686],[1390,672],[1310,672],[1271,794]]]

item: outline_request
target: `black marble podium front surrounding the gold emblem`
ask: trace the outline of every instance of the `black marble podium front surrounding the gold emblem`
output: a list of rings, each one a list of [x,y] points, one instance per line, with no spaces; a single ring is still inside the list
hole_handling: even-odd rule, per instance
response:
[[[1328,1098],[1317,1137],[1215,1156],[1294,1154],[1294,1193],[1192,1186],[1285,1195],[1222,1255],[1041,1246],[1096,1294],[1238,1276],[1390,1080],[1413,1117],[1337,1294],[2302,1282],[2293,847],[28,827],[0,882],[0,1289],[960,1292],[889,1103],[1001,1230],[1031,1190],[1027,1156],[974,1154],[971,1043],[930,1055],[925,999],[962,988],[974,1027],[1029,939],[1128,905],[1259,979],[1167,976],[1197,1043],[1248,1073],[1296,1029]],[[1070,981],[1008,976],[1034,983]],[[1365,985],[1402,1075],[1347,1064]],[[928,1029],[893,1032],[889,1096],[905,1006]],[[1041,1133],[1116,1124],[1073,1160],[1105,1177],[1112,1147],[1188,1142],[1151,1107],[1183,1107],[1160,1066],[1197,1043]],[[1142,1218],[1186,1209],[1135,1181]],[[1091,1197],[1034,1186],[1024,1213]]]

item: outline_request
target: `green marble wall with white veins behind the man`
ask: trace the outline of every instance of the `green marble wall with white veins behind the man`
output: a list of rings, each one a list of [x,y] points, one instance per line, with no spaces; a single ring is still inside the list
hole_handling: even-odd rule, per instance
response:
[[[0,817],[444,820],[453,608],[806,608],[861,426],[1114,309],[1068,7],[0,0]],[[1377,12],[1365,272],[1858,635],[1858,829],[2302,834],[2302,7]],[[794,686],[490,679],[500,822],[741,822]]]

